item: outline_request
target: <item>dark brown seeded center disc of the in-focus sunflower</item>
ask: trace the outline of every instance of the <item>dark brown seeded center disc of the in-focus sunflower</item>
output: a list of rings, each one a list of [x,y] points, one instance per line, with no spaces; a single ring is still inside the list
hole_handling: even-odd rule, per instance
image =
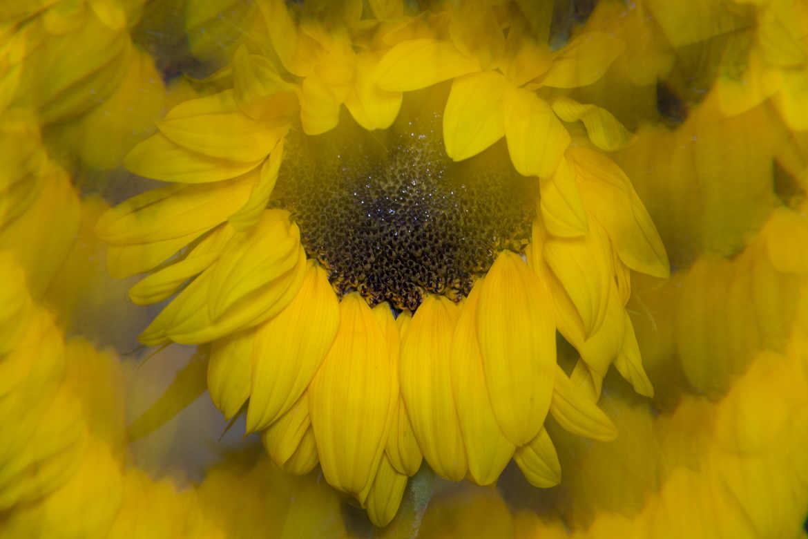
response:
[[[345,117],[325,135],[288,138],[273,204],[292,213],[340,297],[356,290],[398,310],[427,293],[459,301],[499,251],[528,243],[537,179],[513,170],[503,141],[452,162],[440,115],[423,109],[406,103],[385,131]]]

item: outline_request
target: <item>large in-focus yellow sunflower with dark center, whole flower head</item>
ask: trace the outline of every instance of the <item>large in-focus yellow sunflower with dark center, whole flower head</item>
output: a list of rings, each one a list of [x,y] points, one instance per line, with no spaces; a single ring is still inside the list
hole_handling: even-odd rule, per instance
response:
[[[631,134],[566,95],[622,42],[551,50],[528,2],[256,3],[263,32],[125,159],[168,184],[99,220],[112,274],[150,272],[134,302],[176,294],[141,342],[209,346],[225,416],[374,524],[422,460],[557,484],[548,413],[612,440],[609,365],[653,393],[625,304],[667,255],[600,151]]]

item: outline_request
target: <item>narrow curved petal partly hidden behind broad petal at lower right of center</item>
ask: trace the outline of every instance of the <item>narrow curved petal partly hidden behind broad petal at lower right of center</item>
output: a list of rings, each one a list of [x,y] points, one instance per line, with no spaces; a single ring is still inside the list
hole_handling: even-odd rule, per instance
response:
[[[461,305],[452,337],[452,392],[457,404],[469,475],[479,485],[499,478],[516,446],[499,429],[488,397],[477,340],[477,311],[482,281],[478,280]]]

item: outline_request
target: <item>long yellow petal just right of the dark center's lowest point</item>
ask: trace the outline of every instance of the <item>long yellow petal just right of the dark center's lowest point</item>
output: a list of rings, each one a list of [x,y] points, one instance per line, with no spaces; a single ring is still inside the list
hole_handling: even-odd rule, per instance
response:
[[[450,352],[459,309],[427,296],[402,335],[401,391],[415,438],[442,478],[465,477],[465,448],[452,396]]]

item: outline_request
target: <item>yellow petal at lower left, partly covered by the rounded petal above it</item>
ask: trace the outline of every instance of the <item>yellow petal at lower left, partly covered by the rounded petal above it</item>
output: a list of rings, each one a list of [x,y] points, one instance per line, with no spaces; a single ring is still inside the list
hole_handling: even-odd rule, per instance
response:
[[[207,343],[242,328],[255,326],[284,309],[297,294],[305,275],[305,251],[300,247],[297,263],[276,280],[237,301],[233,308],[213,320],[208,305],[213,269],[209,267],[171,301],[138,337],[147,346],[174,341]]]

